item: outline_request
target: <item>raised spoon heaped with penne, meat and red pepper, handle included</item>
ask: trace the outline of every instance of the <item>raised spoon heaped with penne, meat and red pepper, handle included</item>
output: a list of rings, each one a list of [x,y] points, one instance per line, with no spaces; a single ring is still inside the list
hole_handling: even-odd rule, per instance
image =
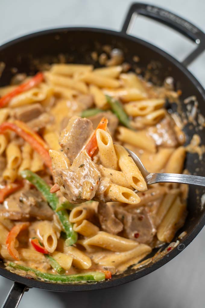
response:
[[[137,204],[147,186],[160,182],[174,182],[205,186],[200,176],[150,173],[132,151],[113,144],[102,118],[93,130],[92,122],[73,116],[61,132],[61,151],[49,150],[55,184],[50,192],[59,189],[71,204],[86,201]],[[180,154],[181,155],[181,154]]]

